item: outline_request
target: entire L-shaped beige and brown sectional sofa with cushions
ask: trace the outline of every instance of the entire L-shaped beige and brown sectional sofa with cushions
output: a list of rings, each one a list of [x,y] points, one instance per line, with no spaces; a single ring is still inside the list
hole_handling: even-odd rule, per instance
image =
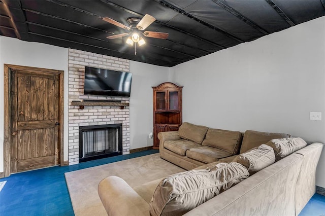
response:
[[[322,143],[182,126],[158,134],[159,150],[188,171],[136,188],[116,176],[103,179],[98,193],[108,215],[298,215],[315,193]]]

